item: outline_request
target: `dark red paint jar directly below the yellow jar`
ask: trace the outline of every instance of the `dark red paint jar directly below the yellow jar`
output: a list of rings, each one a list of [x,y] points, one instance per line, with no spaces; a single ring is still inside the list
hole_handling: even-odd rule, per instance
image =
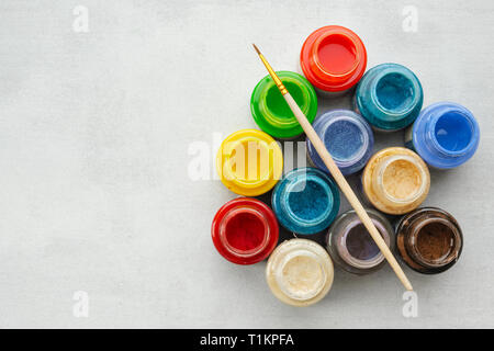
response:
[[[254,264],[272,252],[279,228],[273,212],[263,202],[238,197],[217,211],[211,236],[225,259],[237,264]]]

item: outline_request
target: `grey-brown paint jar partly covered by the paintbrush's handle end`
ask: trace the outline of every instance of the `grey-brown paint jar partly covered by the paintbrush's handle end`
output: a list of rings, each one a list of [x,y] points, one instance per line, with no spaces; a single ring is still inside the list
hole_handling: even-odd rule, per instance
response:
[[[373,210],[366,210],[384,242],[393,249],[394,229],[390,222]],[[336,217],[326,236],[326,248],[332,259],[344,270],[368,274],[381,269],[385,258],[355,211]]]

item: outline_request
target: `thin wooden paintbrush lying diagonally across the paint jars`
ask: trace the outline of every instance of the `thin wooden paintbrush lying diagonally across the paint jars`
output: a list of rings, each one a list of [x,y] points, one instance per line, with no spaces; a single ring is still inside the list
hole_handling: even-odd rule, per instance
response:
[[[308,122],[307,117],[304,115],[302,110],[296,104],[295,100],[293,100],[290,92],[284,87],[281,79],[277,76],[274,70],[271,68],[265,56],[260,53],[260,50],[257,48],[255,44],[252,44],[254,48],[256,49],[257,54],[259,55],[259,58],[261,59],[262,64],[265,64],[266,69],[268,70],[269,75],[271,76],[272,80],[277,84],[278,89],[280,90],[281,94],[283,95],[284,100],[289,104],[290,109],[292,110],[293,114],[296,117],[296,121],[299,121],[300,125],[305,132],[305,135],[307,138],[312,141],[314,145],[314,148],[316,149],[317,154],[321,156],[321,159],[324,161],[324,165],[326,165],[327,169],[332,173],[333,178],[335,179],[336,183],[338,184],[341,192],[345,194],[345,196],[348,199],[348,202],[350,203],[351,207],[353,207],[355,212],[359,216],[360,220],[371,235],[372,239],[375,241],[375,245],[378,245],[379,249],[381,250],[384,258],[390,263],[391,268],[393,269],[396,276],[400,279],[402,284],[405,286],[406,290],[412,291],[412,284],[409,283],[408,279],[405,275],[405,272],[403,272],[402,268],[397,263],[396,259],[394,258],[393,253],[391,252],[390,248],[385,244],[384,239],[379,234],[378,229],[375,228],[374,224],[372,223],[371,218],[367,214],[366,210],[363,208],[362,204],[358,200],[355,192],[351,190],[350,185],[348,184],[347,180],[345,179],[344,174],[339,170],[338,166],[336,166],[335,161],[333,160],[333,157],[330,156],[329,151],[326,149],[326,146],[321,140],[317,133],[312,127],[311,123]]]

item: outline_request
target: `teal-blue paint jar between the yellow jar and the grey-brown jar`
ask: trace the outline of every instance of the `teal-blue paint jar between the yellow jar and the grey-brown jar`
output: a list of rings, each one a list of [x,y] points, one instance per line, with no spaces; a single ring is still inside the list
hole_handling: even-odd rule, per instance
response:
[[[272,208],[288,230],[316,234],[326,229],[338,214],[338,188],[316,168],[297,168],[287,173],[274,188]]]

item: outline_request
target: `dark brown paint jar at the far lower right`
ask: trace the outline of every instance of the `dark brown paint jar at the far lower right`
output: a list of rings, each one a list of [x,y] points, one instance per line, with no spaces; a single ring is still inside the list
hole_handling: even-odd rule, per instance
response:
[[[458,261],[463,248],[463,235],[449,213],[436,207],[423,207],[400,220],[396,247],[409,268],[419,273],[436,274]]]

